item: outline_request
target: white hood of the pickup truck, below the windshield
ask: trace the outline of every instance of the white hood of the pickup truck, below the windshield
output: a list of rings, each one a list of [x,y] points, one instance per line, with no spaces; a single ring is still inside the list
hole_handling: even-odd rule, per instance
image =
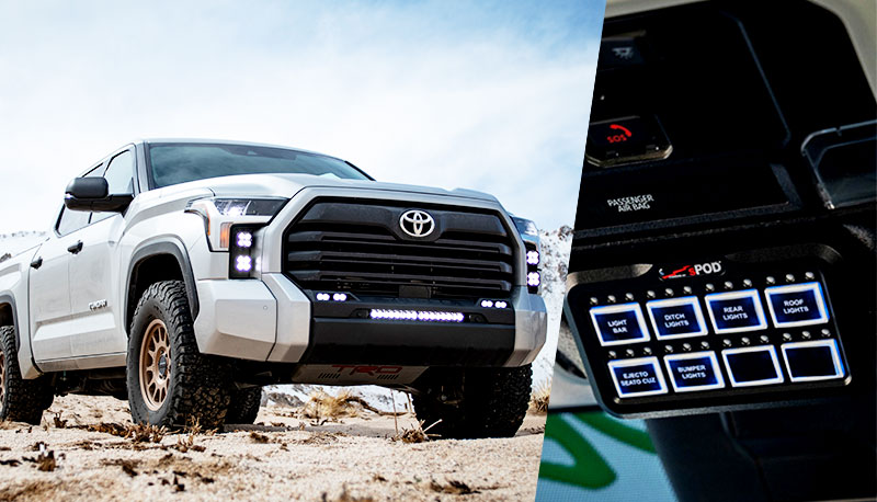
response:
[[[431,186],[381,183],[368,180],[340,180],[311,174],[241,174],[237,176],[209,178],[158,189],[152,195],[166,196],[184,192],[209,190],[219,197],[271,196],[293,197],[303,189],[326,187],[343,190],[372,190],[396,193],[429,194],[454,198],[498,202],[492,195],[474,190],[443,190]]]

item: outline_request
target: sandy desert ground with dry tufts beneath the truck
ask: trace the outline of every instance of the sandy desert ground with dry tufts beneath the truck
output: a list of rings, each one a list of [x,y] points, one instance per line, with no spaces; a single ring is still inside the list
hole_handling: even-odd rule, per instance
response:
[[[60,397],[39,426],[0,423],[0,500],[534,499],[544,414],[511,438],[424,441],[410,412],[368,408],[267,401],[257,425],[162,432],[125,401]]]

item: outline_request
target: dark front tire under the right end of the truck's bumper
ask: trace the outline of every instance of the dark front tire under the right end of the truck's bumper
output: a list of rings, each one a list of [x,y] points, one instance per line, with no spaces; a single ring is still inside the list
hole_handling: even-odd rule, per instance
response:
[[[449,438],[511,437],[529,406],[533,370],[466,368],[434,370],[419,384],[414,411],[428,433]]]

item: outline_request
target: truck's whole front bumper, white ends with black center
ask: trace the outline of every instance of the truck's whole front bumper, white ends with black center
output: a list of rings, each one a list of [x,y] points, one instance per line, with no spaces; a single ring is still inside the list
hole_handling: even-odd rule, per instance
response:
[[[356,317],[355,309],[460,310],[446,301],[388,299],[315,305],[282,274],[197,282],[198,349],[241,360],[309,364],[521,366],[545,344],[538,295],[515,287],[510,308],[479,322],[419,322]],[[346,311],[344,310],[346,309]],[[468,307],[467,311],[481,311]],[[489,313],[489,312],[488,312]],[[468,319],[468,318],[467,318]]]

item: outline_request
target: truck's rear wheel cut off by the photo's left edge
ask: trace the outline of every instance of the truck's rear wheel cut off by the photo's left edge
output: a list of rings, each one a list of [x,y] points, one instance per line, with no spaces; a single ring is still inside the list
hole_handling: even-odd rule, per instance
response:
[[[0,328],[0,420],[39,425],[43,411],[55,399],[47,377],[21,377],[19,352],[15,349],[15,328]]]

